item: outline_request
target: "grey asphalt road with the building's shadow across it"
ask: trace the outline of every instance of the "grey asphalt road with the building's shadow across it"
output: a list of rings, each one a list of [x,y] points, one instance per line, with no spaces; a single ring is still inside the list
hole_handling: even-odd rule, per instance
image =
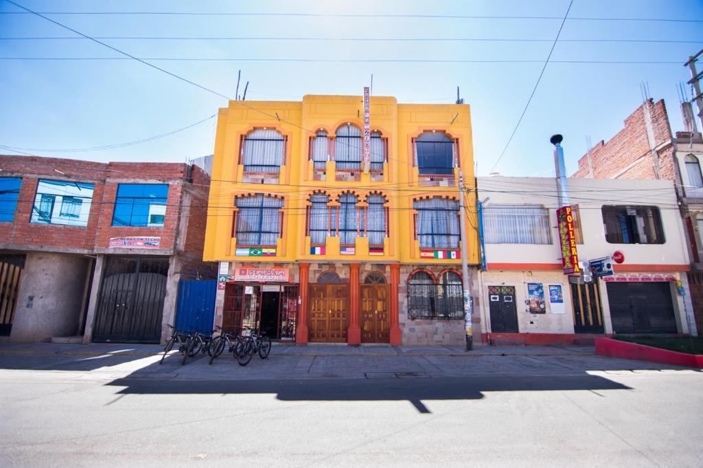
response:
[[[703,466],[697,370],[210,380],[3,359],[2,466]]]

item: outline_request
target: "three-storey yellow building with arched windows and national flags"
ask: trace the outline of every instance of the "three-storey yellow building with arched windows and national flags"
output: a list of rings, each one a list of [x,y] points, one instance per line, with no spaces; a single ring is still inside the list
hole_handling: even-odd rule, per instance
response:
[[[216,325],[298,343],[464,342],[459,168],[470,271],[479,262],[469,106],[373,97],[365,121],[364,103],[219,109],[204,253],[221,262]]]

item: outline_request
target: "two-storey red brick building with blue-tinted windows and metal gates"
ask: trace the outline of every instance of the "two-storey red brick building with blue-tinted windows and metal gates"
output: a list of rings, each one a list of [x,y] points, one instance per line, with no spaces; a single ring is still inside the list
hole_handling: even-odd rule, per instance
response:
[[[159,342],[207,272],[209,176],[181,163],[0,156],[0,331]]]

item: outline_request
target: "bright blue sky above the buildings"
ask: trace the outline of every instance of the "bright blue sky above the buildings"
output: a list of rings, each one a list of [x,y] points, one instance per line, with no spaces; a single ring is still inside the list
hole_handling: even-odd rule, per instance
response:
[[[569,0],[537,1],[38,1],[35,11],[238,13],[379,13],[404,15],[563,16]],[[197,9],[196,9],[197,8]],[[18,8],[0,0],[0,12]],[[321,41],[105,39],[148,58],[297,58],[346,60],[545,60],[561,20],[340,18],[265,15],[48,15],[91,36],[237,36],[347,39],[546,39],[508,41]],[[574,0],[572,18],[703,20],[703,1]],[[676,86],[683,62],[703,47],[703,22],[567,20],[560,39],[658,39],[678,43],[556,44],[552,60],[657,61],[671,64],[550,63],[503,159],[504,175],[547,176],[553,133],[565,136],[569,173],[593,144],[623,125],[646,81],[664,98],[673,131],[683,130]],[[0,15],[0,37],[75,36],[34,15]],[[0,40],[0,57],[117,57],[83,39]],[[250,81],[247,100],[299,100],[304,94],[361,94],[373,73],[374,95],[399,102],[451,103],[456,86],[472,106],[478,174],[503,151],[541,71],[537,63],[178,62],[158,66],[224,95],[237,70]],[[0,60],[0,145],[70,149],[112,145],[166,133],[205,119],[226,100],[134,60]],[[243,85],[240,87],[240,93]],[[372,116],[373,119],[373,116]],[[212,154],[214,119],[167,138],[98,152],[34,151],[91,161],[185,161]],[[1,151],[9,153],[8,151]]]

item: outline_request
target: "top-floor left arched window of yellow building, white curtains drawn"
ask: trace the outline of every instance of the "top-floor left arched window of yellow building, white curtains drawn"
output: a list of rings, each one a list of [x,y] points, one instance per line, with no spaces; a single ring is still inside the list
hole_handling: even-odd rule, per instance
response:
[[[245,172],[278,173],[284,154],[283,135],[272,128],[257,128],[244,137],[241,162]]]

